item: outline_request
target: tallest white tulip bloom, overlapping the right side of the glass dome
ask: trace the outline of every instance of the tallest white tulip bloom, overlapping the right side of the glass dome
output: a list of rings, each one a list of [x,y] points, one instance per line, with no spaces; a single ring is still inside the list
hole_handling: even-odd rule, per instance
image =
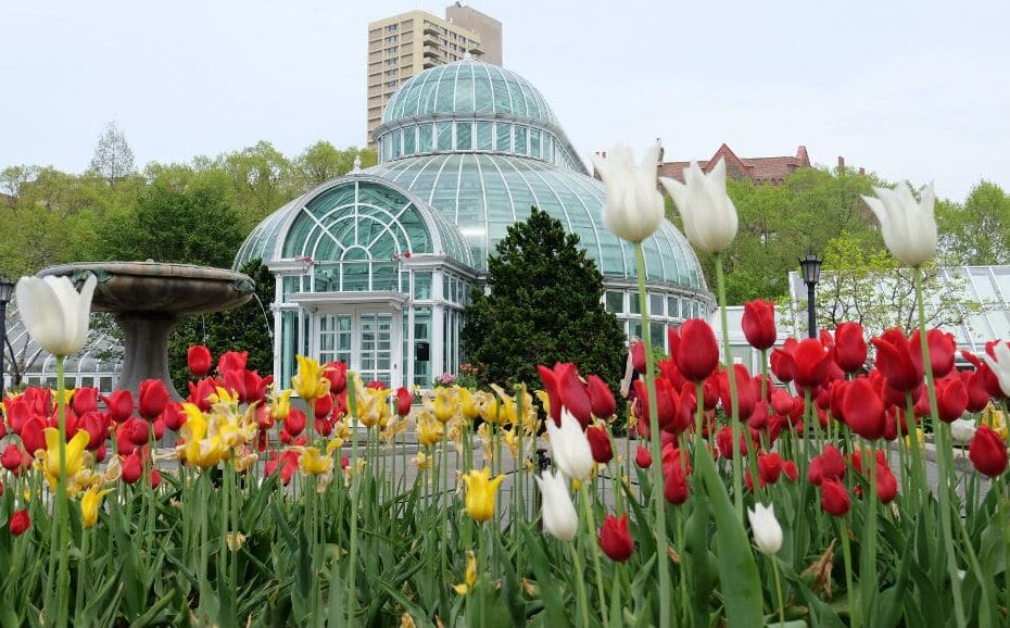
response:
[[[641,242],[662,224],[662,194],[656,189],[657,163],[658,143],[645,150],[641,165],[634,163],[634,154],[623,145],[610,149],[607,156],[593,155],[593,166],[607,189],[603,224],[629,242]]]

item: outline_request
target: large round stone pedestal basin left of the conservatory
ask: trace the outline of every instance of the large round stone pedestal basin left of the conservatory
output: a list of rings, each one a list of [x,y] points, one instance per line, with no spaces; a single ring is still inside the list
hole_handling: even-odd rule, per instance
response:
[[[144,379],[161,379],[172,399],[182,399],[168,374],[168,334],[184,317],[241,305],[255,290],[241,273],[159,262],[93,262],[51,266],[38,274],[98,277],[93,312],[110,312],[126,335],[123,373],[116,388],[136,394]]]

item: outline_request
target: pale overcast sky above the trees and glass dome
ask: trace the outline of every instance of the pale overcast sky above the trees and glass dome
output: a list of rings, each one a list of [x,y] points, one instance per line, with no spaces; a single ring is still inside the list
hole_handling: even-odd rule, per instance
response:
[[[87,167],[115,118],[138,165],[264,139],[365,140],[371,20],[426,0],[0,0],[0,167]],[[1010,189],[1010,4],[475,0],[583,156],[838,155],[963,199]]]

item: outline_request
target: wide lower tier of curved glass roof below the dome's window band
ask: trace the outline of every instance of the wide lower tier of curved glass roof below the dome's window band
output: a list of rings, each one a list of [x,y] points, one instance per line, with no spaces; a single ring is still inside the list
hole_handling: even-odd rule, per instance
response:
[[[603,226],[605,192],[592,177],[538,160],[482,153],[401,159],[366,172],[403,186],[454,222],[480,272],[508,227],[535,205],[579,235],[605,277],[635,276],[634,248]],[[694,251],[671,223],[664,221],[644,248],[651,281],[706,290]]]

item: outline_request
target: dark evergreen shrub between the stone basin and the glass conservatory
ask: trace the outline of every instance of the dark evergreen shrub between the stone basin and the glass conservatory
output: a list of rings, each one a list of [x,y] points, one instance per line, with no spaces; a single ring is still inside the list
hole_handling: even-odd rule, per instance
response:
[[[274,300],[274,276],[260,260],[249,262],[241,272],[256,284],[256,296],[251,301],[227,312],[186,318],[168,340],[172,381],[182,394],[192,379],[187,353],[193,344],[206,346],[215,360],[225,351],[248,351],[249,369],[261,375],[274,369],[274,321],[268,309]]]

